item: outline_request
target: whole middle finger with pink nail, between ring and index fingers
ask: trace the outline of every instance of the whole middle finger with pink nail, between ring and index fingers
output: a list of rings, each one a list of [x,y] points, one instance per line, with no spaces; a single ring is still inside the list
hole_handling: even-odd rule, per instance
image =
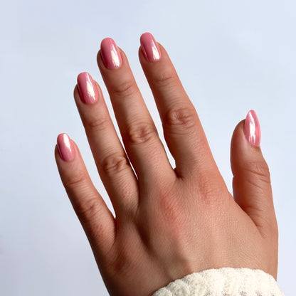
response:
[[[97,64],[139,184],[175,177],[127,58],[111,38],[102,41]]]

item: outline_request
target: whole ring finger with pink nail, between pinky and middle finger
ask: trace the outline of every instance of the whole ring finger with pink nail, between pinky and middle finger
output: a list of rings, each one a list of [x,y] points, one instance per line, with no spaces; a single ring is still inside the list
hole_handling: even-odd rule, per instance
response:
[[[78,75],[75,102],[102,183],[117,216],[137,208],[137,178],[117,137],[102,91],[88,73]]]

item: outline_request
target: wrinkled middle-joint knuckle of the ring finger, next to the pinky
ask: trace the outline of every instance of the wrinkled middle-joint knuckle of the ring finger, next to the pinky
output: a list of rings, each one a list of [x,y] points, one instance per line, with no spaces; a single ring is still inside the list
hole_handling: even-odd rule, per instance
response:
[[[127,158],[125,155],[113,153],[103,160],[102,171],[104,171],[107,176],[111,176],[127,169],[127,166]]]

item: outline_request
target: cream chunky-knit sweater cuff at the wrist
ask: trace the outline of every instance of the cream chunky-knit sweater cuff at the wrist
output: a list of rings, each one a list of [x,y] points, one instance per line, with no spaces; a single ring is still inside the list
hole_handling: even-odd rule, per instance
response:
[[[219,268],[186,275],[152,296],[284,296],[272,275],[249,268]]]

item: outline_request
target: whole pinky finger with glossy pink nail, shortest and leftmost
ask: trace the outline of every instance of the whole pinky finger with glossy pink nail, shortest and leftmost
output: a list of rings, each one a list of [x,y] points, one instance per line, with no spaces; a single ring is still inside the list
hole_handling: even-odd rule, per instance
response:
[[[55,156],[60,178],[90,245],[103,258],[115,240],[115,219],[93,186],[78,147],[67,134],[58,135]]]

